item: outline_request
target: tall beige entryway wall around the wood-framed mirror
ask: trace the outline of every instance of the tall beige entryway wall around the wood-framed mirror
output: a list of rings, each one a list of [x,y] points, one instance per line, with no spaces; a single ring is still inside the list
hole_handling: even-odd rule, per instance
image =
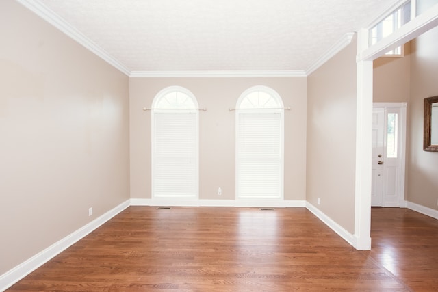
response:
[[[438,210],[438,152],[423,151],[423,101],[438,96],[438,27],[412,44],[407,200]]]

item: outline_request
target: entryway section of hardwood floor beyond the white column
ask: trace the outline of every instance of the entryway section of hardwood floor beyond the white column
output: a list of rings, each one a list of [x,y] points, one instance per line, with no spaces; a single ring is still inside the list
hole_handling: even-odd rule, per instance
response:
[[[372,208],[370,256],[413,291],[438,291],[438,220],[409,209]]]

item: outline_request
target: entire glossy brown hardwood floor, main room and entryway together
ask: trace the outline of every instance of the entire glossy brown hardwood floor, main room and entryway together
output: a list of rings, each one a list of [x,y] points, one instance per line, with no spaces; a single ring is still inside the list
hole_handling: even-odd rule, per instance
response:
[[[363,252],[304,208],[129,207],[8,291],[436,291],[422,216],[372,209]]]

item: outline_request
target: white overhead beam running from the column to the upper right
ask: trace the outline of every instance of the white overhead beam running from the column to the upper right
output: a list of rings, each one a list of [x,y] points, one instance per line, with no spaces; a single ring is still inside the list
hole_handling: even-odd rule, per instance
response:
[[[383,38],[372,47],[365,49],[358,54],[358,59],[372,61],[385,55],[387,51],[394,49],[414,38],[420,36],[429,29],[438,25],[438,4],[429,8],[424,13],[413,18],[400,29],[397,29],[391,35]]]

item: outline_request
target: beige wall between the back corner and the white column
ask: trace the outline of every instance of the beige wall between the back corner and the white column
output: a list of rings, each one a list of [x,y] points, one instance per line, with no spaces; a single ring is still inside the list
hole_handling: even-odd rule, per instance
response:
[[[307,201],[350,233],[355,232],[356,48],[355,38],[307,79]]]

